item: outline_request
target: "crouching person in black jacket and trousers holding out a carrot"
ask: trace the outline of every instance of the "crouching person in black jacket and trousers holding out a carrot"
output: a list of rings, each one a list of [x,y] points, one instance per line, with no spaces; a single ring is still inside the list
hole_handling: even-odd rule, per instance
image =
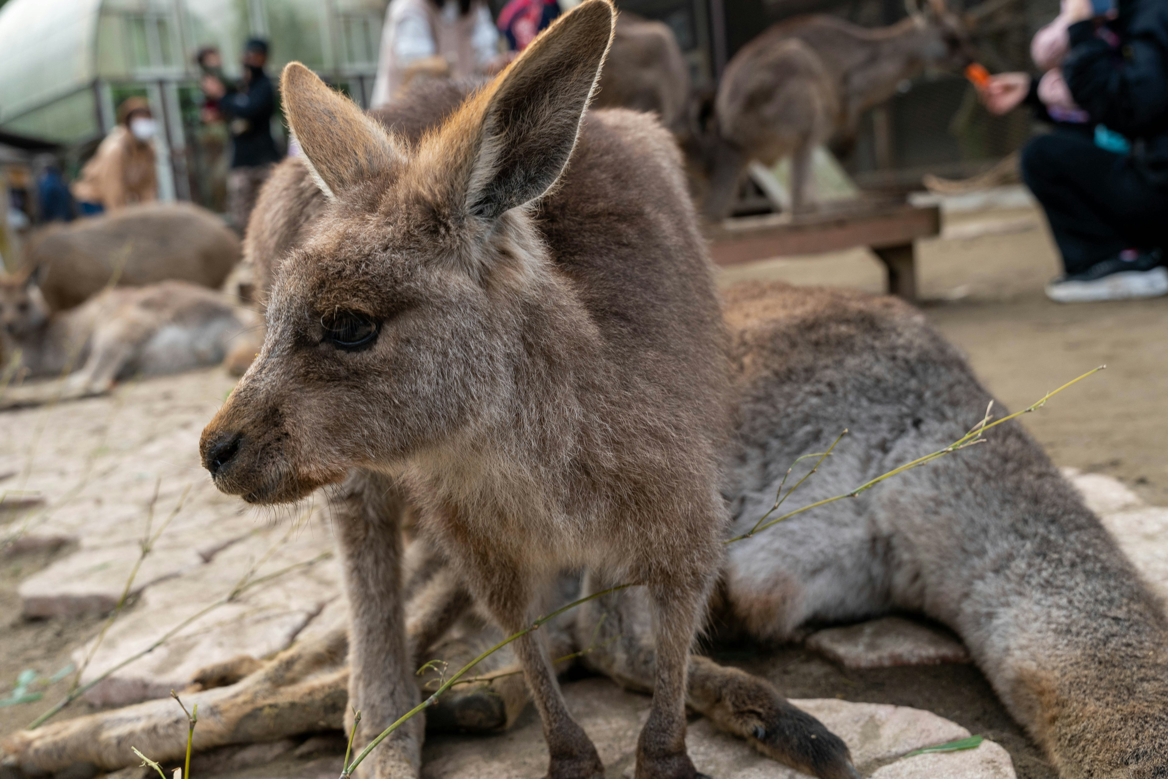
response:
[[[1063,77],[1096,132],[1040,135],[1022,151],[1022,178],[1047,213],[1065,269],[1047,294],[1059,302],[1166,294],[1168,2],[1118,0],[1103,16],[1091,0],[1064,6],[1073,23]],[[994,77],[992,111],[995,96],[1033,91],[1018,76]]]

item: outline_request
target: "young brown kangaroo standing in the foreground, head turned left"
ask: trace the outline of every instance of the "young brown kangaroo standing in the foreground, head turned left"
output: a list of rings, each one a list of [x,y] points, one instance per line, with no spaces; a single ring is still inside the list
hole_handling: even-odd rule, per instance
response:
[[[359,743],[418,700],[399,528],[371,508],[394,478],[508,632],[561,568],[645,584],[656,662],[637,777],[696,775],[686,672],[726,522],[721,313],[672,138],[627,111],[582,121],[613,18],[580,4],[417,144],[299,63],[284,70],[329,204],[277,269],[263,349],[201,451],[249,502],[350,470],[346,492],[367,496],[338,517]],[[515,646],[549,775],[603,775],[542,642]],[[416,775],[420,740],[411,721],[366,775]]]

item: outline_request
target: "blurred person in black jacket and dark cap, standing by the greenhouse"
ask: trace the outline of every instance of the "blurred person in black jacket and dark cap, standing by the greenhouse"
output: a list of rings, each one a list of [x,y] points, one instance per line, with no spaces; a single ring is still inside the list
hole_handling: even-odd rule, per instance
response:
[[[217,100],[218,112],[231,133],[231,171],[227,179],[228,213],[241,234],[256,204],[259,187],[271,173],[280,153],[272,138],[272,113],[276,90],[264,71],[267,42],[253,37],[243,49],[243,78],[229,84],[222,72],[204,71],[201,86],[208,98]]]

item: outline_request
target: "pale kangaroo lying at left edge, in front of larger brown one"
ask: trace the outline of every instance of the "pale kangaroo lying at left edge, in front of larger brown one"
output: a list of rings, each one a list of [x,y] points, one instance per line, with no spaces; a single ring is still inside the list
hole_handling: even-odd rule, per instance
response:
[[[258,317],[186,281],[111,287],[50,313],[30,274],[0,278],[0,355],[5,373],[64,382],[0,389],[0,409],[107,392],[119,378],[218,364]],[[75,370],[76,369],[76,370]]]

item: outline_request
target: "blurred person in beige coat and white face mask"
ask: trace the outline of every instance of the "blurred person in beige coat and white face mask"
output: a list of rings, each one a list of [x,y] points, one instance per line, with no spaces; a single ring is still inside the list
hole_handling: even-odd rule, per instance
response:
[[[153,145],[157,133],[158,124],[145,98],[131,97],[118,106],[118,125],[72,186],[82,216],[158,200]]]

